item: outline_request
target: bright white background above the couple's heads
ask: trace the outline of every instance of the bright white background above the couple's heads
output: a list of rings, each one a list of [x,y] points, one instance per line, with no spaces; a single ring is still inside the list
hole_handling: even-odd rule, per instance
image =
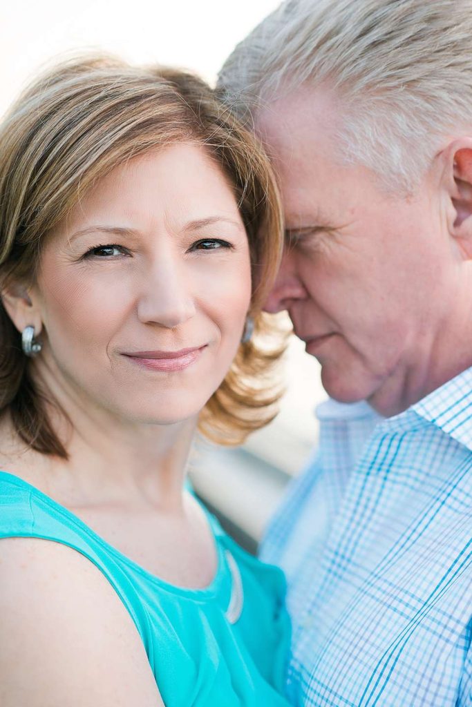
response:
[[[131,62],[194,69],[212,82],[232,47],[277,0],[2,0],[0,112],[57,54],[99,48]]]

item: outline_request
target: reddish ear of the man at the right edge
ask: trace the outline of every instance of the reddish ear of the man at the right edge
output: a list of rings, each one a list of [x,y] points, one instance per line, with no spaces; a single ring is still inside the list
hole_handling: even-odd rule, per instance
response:
[[[462,255],[472,259],[472,138],[454,140],[442,156],[449,233]]]

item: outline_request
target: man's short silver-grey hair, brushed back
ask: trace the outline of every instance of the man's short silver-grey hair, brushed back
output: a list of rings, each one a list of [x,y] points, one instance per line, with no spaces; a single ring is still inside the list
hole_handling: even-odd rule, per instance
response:
[[[472,0],[288,0],[227,59],[243,119],[302,85],[340,99],[343,152],[415,188],[446,135],[472,126]]]

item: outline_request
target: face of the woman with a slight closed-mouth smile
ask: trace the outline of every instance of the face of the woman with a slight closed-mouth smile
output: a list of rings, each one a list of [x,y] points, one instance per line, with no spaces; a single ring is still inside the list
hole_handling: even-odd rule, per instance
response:
[[[251,300],[226,177],[195,144],[117,167],[52,233],[34,293],[38,370],[53,374],[61,402],[132,422],[197,415],[236,354]]]

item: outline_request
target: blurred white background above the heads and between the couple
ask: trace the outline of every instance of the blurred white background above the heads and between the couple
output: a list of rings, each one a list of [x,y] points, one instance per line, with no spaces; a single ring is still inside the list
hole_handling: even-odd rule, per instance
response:
[[[214,83],[234,45],[278,0],[0,0],[0,114],[52,60],[100,49],[135,63],[197,71]],[[243,450],[205,446],[192,464],[197,491],[233,525],[259,539],[284,485],[316,443],[313,408],[325,397],[316,361],[292,340],[280,416]]]

